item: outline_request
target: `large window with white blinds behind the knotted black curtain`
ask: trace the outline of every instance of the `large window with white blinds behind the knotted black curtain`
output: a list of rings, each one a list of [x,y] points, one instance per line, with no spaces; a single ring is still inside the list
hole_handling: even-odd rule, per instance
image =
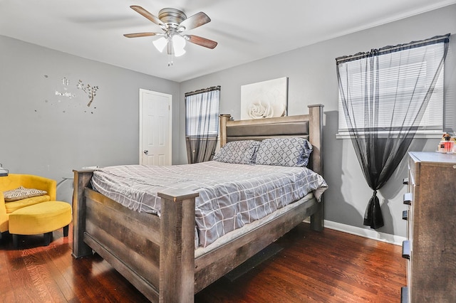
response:
[[[338,137],[349,135],[349,126],[358,132],[373,127],[379,133],[394,132],[403,127],[418,127],[417,134],[438,134],[443,131],[443,66],[436,70],[444,56],[445,43],[422,43],[395,50],[388,47],[377,53],[353,55],[350,60],[338,62],[339,102]],[[372,57],[375,56],[375,60]],[[343,58],[338,58],[340,60]],[[428,90],[435,81],[431,94]],[[420,111],[429,95],[425,112]],[[347,123],[343,102],[350,112]],[[366,107],[375,107],[368,108]],[[366,117],[366,112],[374,115]],[[418,121],[417,124],[417,115]],[[375,121],[372,121],[374,119]],[[356,123],[354,123],[356,122]]]

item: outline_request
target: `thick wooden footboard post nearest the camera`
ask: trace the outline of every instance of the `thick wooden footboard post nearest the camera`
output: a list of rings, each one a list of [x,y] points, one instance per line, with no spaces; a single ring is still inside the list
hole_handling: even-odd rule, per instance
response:
[[[167,189],[160,206],[160,302],[193,302],[195,296],[194,191]]]

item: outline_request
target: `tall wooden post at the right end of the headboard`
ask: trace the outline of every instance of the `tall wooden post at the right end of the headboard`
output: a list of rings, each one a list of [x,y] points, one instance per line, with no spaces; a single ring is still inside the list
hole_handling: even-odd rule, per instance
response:
[[[323,106],[321,104],[308,105],[309,107],[309,139],[312,142],[312,170],[323,176]],[[324,207],[323,196],[318,203],[318,211],[311,216],[312,230],[323,230]]]

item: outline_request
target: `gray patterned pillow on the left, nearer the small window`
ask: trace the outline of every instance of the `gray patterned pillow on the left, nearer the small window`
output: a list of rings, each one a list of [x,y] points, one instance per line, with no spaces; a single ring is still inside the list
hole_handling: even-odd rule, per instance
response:
[[[232,141],[225,144],[214,160],[234,164],[254,164],[260,142],[254,140]]]

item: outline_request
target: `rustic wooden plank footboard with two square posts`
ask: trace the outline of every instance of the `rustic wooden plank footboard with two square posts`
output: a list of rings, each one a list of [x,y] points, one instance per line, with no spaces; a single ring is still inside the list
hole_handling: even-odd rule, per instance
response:
[[[90,189],[93,171],[74,171],[73,257],[93,251],[152,302],[189,302],[195,293],[195,197],[164,191],[160,218]],[[184,299],[186,298],[186,299]]]

